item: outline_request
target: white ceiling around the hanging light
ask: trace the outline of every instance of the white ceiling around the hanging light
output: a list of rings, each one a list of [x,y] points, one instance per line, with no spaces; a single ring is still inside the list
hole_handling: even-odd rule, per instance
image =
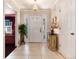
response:
[[[40,9],[49,9],[53,8],[58,1],[59,0],[37,0],[36,4]],[[32,9],[34,3],[34,0],[4,0],[4,8]]]

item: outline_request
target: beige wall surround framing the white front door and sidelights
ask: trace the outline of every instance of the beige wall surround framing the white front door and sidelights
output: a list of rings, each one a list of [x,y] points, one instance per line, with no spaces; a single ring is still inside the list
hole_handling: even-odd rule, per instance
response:
[[[21,19],[24,19],[24,21],[21,21],[21,23],[26,24],[26,16],[31,15],[31,14],[46,14],[48,16],[47,18],[47,22],[46,22],[46,26],[47,26],[47,31],[46,31],[46,41],[43,42],[47,42],[47,38],[48,38],[48,23],[49,23],[49,19],[50,19],[50,10],[39,10],[39,11],[33,11],[33,10],[22,10],[21,11]],[[29,26],[28,26],[29,27]],[[28,38],[26,39],[25,37],[25,42],[29,42],[29,29],[28,29]]]

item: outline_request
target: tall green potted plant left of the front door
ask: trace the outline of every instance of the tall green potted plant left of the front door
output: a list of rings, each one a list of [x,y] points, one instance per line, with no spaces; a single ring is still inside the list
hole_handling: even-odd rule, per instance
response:
[[[24,36],[27,37],[27,27],[26,27],[25,24],[19,25],[19,33],[20,33],[20,45],[21,45],[22,43],[25,44]]]

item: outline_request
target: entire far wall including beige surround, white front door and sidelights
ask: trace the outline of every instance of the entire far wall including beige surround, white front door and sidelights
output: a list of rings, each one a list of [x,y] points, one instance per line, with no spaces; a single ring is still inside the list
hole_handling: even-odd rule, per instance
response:
[[[49,11],[39,10],[34,12],[33,10],[23,10],[21,14],[21,19],[24,19],[21,23],[27,26],[28,32],[28,38],[25,41],[47,42]]]

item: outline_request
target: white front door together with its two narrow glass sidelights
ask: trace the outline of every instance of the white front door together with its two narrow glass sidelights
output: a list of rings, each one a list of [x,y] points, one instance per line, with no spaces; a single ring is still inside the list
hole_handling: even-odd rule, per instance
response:
[[[25,24],[28,31],[26,42],[47,42],[47,19],[46,14],[25,16]]]

